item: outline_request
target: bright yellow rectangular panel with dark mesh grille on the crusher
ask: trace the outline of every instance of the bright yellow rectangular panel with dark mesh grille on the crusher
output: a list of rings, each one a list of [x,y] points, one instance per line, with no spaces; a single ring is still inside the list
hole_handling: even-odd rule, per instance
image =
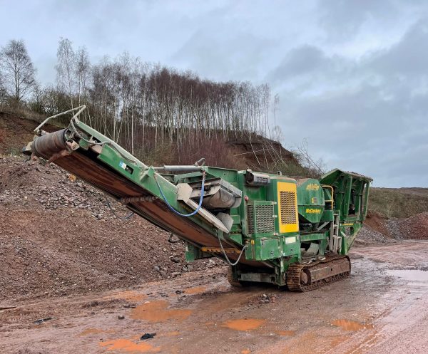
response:
[[[277,182],[278,220],[280,233],[299,231],[297,187],[295,183]]]

